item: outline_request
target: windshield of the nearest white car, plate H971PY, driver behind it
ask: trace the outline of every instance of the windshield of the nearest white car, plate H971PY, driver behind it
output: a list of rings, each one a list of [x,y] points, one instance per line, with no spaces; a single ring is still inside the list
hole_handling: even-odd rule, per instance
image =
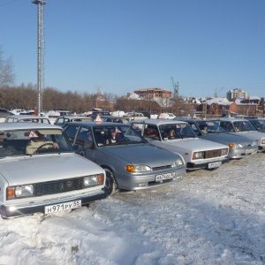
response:
[[[64,152],[72,152],[72,148],[61,130],[33,128],[0,132],[0,158]]]

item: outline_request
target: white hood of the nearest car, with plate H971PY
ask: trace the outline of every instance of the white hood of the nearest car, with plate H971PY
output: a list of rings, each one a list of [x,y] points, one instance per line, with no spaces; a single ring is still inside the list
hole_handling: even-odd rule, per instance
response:
[[[97,164],[72,153],[0,160],[0,174],[10,186],[83,177],[102,172],[102,168]]]

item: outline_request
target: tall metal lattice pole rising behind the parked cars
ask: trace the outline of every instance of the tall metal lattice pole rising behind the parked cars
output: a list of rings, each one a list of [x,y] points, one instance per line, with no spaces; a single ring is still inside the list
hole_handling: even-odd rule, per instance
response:
[[[42,111],[42,89],[44,86],[44,34],[43,34],[43,5],[42,0],[32,0],[33,4],[38,5],[38,115]]]

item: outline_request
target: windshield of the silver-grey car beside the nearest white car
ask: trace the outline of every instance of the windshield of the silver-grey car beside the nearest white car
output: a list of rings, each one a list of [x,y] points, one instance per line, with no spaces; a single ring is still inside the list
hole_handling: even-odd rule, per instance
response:
[[[147,142],[129,125],[98,125],[93,127],[93,133],[98,147]]]

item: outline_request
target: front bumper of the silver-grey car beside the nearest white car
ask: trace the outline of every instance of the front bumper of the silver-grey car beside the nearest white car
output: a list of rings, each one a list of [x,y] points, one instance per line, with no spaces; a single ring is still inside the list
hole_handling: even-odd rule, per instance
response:
[[[160,181],[155,181],[155,176],[163,175],[166,176],[175,172],[175,176],[170,179],[162,179]],[[181,181],[184,178],[186,173],[186,166],[183,165],[178,170],[170,170],[170,171],[163,171],[163,172],[152,172],[151,174],[126,174],[125,172],[121,174],[116,174],[117,178],[117,185],[121,189],[129,190],[129,191],[136,191],[136,190],[144,190],[150,188],[156,188],[158,186],[168,186],[174,183]]]

